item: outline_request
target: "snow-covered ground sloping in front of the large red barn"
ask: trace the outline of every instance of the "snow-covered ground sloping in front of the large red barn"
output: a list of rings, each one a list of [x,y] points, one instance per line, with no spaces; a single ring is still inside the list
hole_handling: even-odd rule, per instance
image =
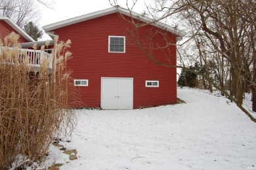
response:
[[[256,123],[227,98],[178,89],[184,104],[77,110],[74,161],[56,146],[41,167],[60,169],[256,169]],[[256,117],[256,114],[253,113]],[[66,163],[68,162],[68,163]]]

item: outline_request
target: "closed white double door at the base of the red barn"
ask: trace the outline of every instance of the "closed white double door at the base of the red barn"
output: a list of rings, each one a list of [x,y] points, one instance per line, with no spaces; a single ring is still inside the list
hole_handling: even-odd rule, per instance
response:
[[[133,78],[101,79],[102,109],[133,109]]]

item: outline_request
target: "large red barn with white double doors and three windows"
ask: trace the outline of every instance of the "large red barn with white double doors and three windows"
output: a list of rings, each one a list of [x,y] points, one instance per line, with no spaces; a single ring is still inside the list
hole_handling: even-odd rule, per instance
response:
[[[130,13],[119,9],[125,18]],[[139,14],[133,12],[133,18]],[[139,20],[136,20],[139,22]],[[142,17],[142,22],[149,22]],[[102,109],[133,109],[177,102],[176,68],[159,66],[133,44],[133,26],[117,14],[115,8],[85,14],[44,26],[50,36],[59,35],[60,40],[71,39],[70,52],[73,58],[68,68],[73,70],[74,85],[80,90],[83,107]],[[174,45],[168,50],[154,49],[166,45],[160,31],[169,34]],[[171,26],[151,24],[139,29],[139,36],[146,39],[154,36],[148,44],[156,60],[176,66],[177,39],[184,32]]]

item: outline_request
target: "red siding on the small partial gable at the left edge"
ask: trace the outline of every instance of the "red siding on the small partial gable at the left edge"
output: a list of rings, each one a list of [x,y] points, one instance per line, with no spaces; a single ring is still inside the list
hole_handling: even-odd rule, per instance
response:
[[[6,35],[9,35],[11,32],[17,33],[16,30],[14,30],[9,24],[7,24],[4,20],[0,20],[0,36],[1,41],[4,43],[4,39]],[[24,37],[20,36],[19,39],[20,43],[26,43],[28,40],[26,40]]]

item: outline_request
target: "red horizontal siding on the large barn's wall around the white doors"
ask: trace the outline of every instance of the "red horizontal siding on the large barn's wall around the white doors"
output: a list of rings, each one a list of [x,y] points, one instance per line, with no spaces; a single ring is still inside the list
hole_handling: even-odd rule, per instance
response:
[[[108,53],[108,35],[127,35],[128,26],[117,14],[109,14],[54,30],[60,39],[71,39],[73,58],[68,66],[73,70],[72,78],[89,79],[88,87],[80,88],[83,106],[100,107],[101,77],[133,77],[133,106],[155,106],[177,102],[176,68],[158,66],[150,61],[138,47],[126,44],[126,53]],[[148,26],[140,30],[146,35]],[[127,36],[126,36],[127,38]],[[173,35],[173,43],[176,43]],[[163,37],[157,36],[161,45]],[[154,51],[160,61],[166,62],[161,51]],[[176,65],[176,47],[170,48],[170,61]],[[146,80],[160,81],[160,87],[145,87]]]

